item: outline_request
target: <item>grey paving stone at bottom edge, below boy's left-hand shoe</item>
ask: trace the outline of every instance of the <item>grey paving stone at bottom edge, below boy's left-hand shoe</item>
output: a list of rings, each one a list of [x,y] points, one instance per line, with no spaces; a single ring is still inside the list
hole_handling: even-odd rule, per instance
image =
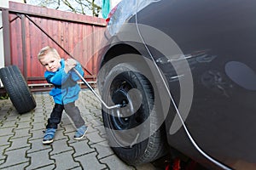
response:
[[[45,167],[49,165],[50,167],[52,167],[51,165],[55,164],[55,160],[49,159],[50,151],[51,149],[45,149],[37,152],[28,153],[27,156],[31,158],[31,164],[26,169],[36,169],[38,167]]]

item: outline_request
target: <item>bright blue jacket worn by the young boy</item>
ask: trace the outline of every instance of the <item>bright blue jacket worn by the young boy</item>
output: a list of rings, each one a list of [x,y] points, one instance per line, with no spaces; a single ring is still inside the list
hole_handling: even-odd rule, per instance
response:
[[[66,105],[68,103],[74,102],[79,99],[80,86],[77,81],[80,77],[74,71],[69,71],[66,73],[64,71],[65,63],[64,59],[61,59],[61,68],[58,71],[51,72],[45,71],[44,77],[46,81],[53,84],[55,88],[51,89],[49,95],[53,96],[55,104]],[[77,62],[75,69],[84,76],[84,71]]]

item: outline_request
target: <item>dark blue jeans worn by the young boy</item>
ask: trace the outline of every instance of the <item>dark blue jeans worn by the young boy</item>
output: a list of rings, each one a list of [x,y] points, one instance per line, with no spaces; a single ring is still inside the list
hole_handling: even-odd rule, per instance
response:
[[[74,102],[72,102],[67,105],[55,104],[55,107],[49,116],[46,128],[58,127],[58,124],[61,122],[63,110],[65,110],[67,115],[71,118],[75,127],[78,128],[84,125],[85,122],[83,117],[80,115],[79,108],[75,106]]]

